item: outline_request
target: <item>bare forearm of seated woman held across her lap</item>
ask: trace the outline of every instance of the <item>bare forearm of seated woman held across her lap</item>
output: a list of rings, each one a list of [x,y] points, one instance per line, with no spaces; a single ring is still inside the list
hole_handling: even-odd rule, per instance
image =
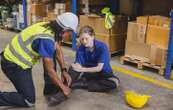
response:
[[[87,72],[87,73],[95,73],[95,72],[100,72],[103,68],[104,63],[98,63],[96,67],[82,67],[79,63],[73,63],[72,67],[75,71],[77,72]]]

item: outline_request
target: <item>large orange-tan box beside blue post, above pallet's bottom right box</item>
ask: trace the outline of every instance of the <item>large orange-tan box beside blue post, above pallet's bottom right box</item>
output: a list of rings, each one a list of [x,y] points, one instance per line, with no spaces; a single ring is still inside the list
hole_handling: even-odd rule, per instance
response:
[[[154,44],[160,48],[168,48],[169,28],[149,25],[147,29],[147,44]]]

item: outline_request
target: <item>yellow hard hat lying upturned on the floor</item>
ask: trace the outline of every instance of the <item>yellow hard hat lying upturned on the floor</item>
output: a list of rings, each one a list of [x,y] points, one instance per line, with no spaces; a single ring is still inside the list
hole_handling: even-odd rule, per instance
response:
[[[137,94],[134,91],[125,91],[126,102],[134,108],[142,108],[151,96]]]

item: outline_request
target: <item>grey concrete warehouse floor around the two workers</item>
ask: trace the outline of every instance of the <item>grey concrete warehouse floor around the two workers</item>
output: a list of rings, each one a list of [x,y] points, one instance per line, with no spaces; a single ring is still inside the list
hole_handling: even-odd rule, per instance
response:
[[[0,47],[11,40],[15,33],[0,30]],[[75,53],[68,47],[63,47],[66,64],[73,62]],[[158,74],[149,71],[137,70],[135,67],[121,65],[119,57],[113,57],[111,65],[122,67],[159,81],[173,84],[173,81],[165,80]],[[148,104],[141,110],[173,110],[173,91],[167,88],[154,85],[150,82],[128,76],[123,73],[116,74],[120,77],[121,86],[110,93],[91,93],[84,90],[75,90],[72,92],[70,98],[53,107],[48,107],[45,97],[43,96],[43,69],[42,64],[37,64],[33,68],[33,79],[36,88],[36,106],[27,108],[27,110],[135,110],[129,107],[124,101],[125,90],[135,90],[139,93],[151,95],[152,98]],[[15,88],[10,81],[4,76],[0,70],[0,90],[1,91],[15,91]],[[26,110],[26,108],[0,107],[3,110]]]

